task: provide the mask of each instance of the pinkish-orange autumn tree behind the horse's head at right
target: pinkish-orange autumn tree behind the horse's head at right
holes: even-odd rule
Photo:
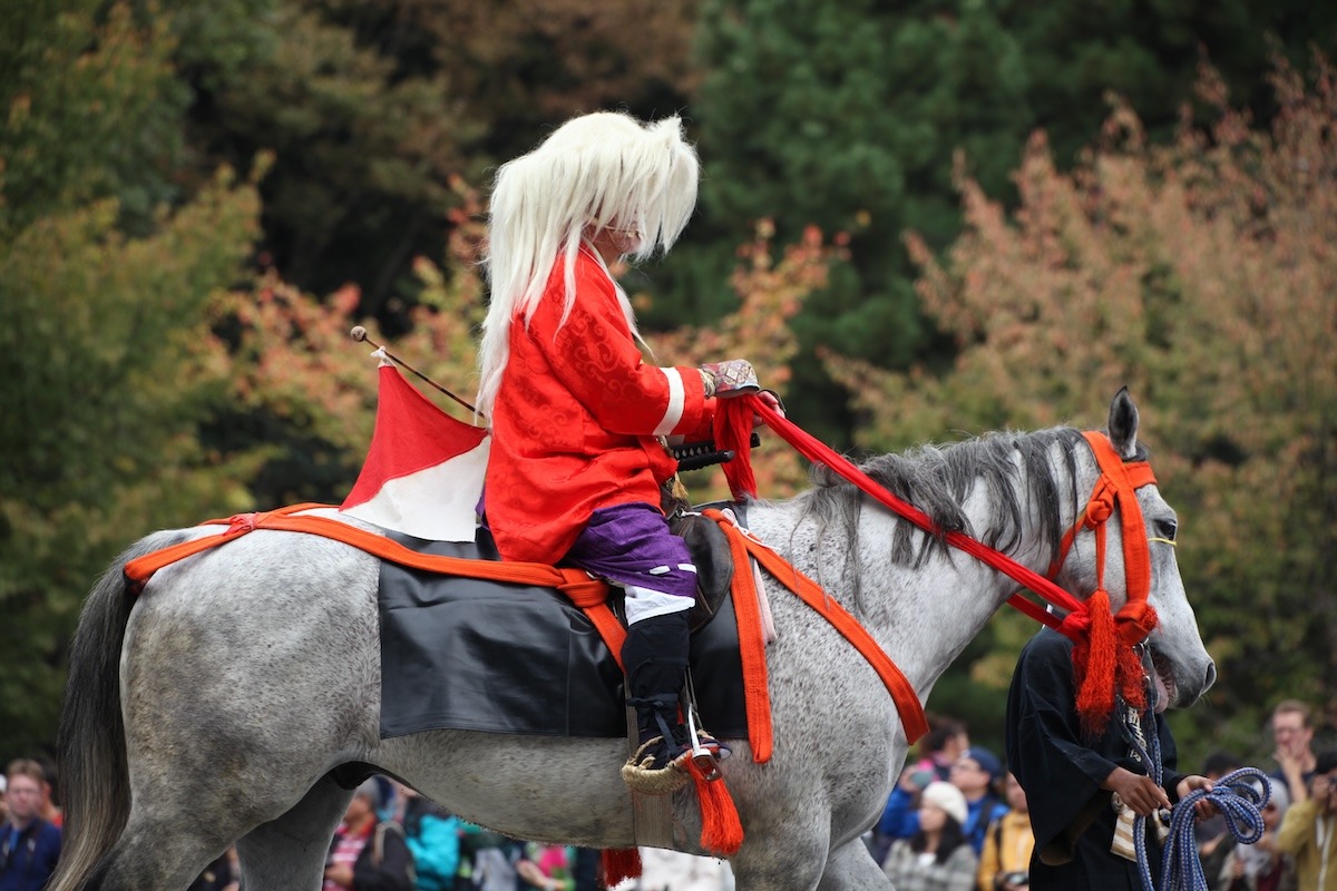
[[[1120,107],[1071,175],[1036,136],[1015,214],[963,179],[967,227],[945,263],[909,244],[925,310],[959,346],[947,374],[833,359],[858,394],[860,442],[1076,421],[1099,426],[1127,383],[1162,490],[1183,521],[1179,564],[1221,683],[1175,719],[1181,748],[1261,757],[1258,728],[1294,696],[1337,724],[1337,77],[1306,90],[1285,61],[1270,131],[1226,107],[1210,131],[1148,144]],[[999,688],[1025,620],[973,677]]]

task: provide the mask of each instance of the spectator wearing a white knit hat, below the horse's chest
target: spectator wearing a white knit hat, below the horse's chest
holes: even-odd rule
[[[965,796],[952,783],[935,780],[920,793],[919,828],[897,839],[882,872],[897,891],[972,891],[979,858],[965,840]]]

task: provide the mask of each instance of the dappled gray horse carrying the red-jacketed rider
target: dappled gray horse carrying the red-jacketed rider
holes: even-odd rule
[[[1136,407],[1120,393],[1108,435],[1138,454]],[[989,434],[864,468],[948,529],[1044,572],[1098,476],[1076,430]],[[909,528],[817,473],[790,501],[757,502],[751,532],[818,580],[873,635],[927,701],[935,681],[1013,592],[999,573]],[[1138,492],[1147,534],[1173,540],[1155,486]],[[55,891],[179,890],[234,842],[249,891],[321,884],[330,834],[352,792],[332,777],[366,763],[485,827],[539,842],[630,847],[632,810],[614,739],[435,731],[378,737],[377,560],[314,536],[258,530],[160,570],[132,600],[135,556],[215,533],[152,534],[92,590],[75,639],[62,716],[67,842]],[[1078,537],[1056,580],[1084,596],[1096,566]],[[1106,586],[1123,594],[1119,526]],[[1173,705],[1215,669],[1174,550],[1152,545],[1151,636]],[[767,582],[778,640],[767,648],[774,756],[746,741],[725,761],[746,832],[731,864],[747,891],[890,888],[860,835],[882,811],[906,739],[877,675],[828,624]],[[695,851],[695,793],[674,801]]]

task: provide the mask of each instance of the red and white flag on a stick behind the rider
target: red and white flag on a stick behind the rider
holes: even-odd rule
[[[372,448],[340,510],[416,538],[473,541],[489,442],[382,358]]]

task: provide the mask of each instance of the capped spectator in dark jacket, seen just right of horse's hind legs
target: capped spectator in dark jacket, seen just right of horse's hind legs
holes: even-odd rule
[[[353,792],[334,830],[322,891],[413,891],[413,855],[404,830],[381,822],[381,787],[369,777]]]

